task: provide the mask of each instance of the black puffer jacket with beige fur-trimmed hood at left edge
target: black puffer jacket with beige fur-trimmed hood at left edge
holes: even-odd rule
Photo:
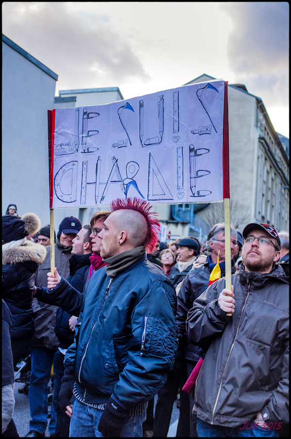
[[[2,298],[12,314],[12,339],[32,337],[34,333],[33,274],[45,256],[45,246],[32,241],[2,252]]]

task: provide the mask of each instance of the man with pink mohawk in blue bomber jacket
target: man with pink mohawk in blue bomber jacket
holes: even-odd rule
[[[173,367],[177,298],[146,259],[160,227],[151,208],[138,198],[115,200],[98,234],[108,265],[90,278],[64,361],[70,437],[142,437],[147,402]]]

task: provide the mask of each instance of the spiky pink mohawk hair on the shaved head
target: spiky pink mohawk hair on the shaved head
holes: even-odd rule
[[[151,253],[156,247],[158,241],[158,231],[160,230],[160,223],[156,212],[151,212],[152,205],[146,200],[134,197],[133,199],[120,199],[113,200],[110,205],[111,211],[121,209],[136,210],[141,213],[147,222],[147,234],[144,246],[148,253]]]

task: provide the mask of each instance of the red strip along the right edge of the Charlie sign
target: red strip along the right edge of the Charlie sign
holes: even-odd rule
[[[228,93],[225,81],[224,111],[223,111],[223,199],[230,198],[229,193],[229,136],[228,136]]]

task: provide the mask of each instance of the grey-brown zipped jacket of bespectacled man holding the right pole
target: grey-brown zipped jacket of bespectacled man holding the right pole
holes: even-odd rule
[[[242,269],[232,275],[231,316],[218,304],[225,279],[210,285],[188,313],[189,340],[208,348],[194,411],[204,422],[230,427],[258,412],[268,425],[289,422],[289,277],[278,265],[268,274]]]

